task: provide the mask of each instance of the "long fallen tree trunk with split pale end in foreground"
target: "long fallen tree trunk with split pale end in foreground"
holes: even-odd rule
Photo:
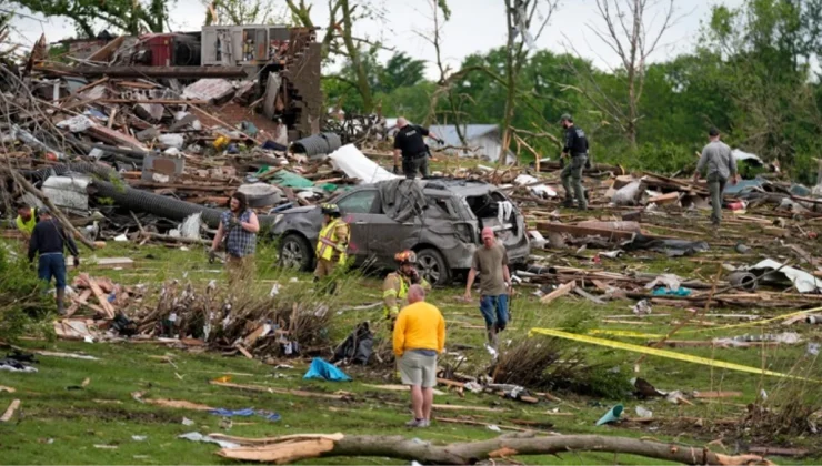
[[[511,456],[557,455],[571,452],[622,453],[686,465],[773,465],[755,455],[729,456],[703,447],[690,447],[635,438],[600,435],[537,437],[533,433],[490,440],[435,446],[419,439],[381,435],[302,435],[267,439],[268,445],[221,449],[218,455],[249,462],[285,464],[331,456],[379,456],[415,460],[424,465],[470,465],[482,459]],[[241,443],[249,445],[249,443]]]

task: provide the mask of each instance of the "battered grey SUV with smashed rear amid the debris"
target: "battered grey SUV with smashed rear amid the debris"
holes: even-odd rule
[[[480,232],[490,226],[512,264],[530,253],[524,217],[497,186],[478,181],[392,180],[360,185],[329,201],[350,225],[349,254],[357,265],[395,267],[398,251],[417,252],[420,274],[445,285],[471,267]],[[291,209],[277,215],[272,233],[280,237],[280,264],[310,271],[322,226],[319,206]]]

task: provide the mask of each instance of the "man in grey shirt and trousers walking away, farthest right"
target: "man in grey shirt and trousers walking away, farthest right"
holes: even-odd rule
[[[706,168],[705,179],[708,180],[708,189],[711,191],[711,207],[713,209],[711,223],[719,227],[722,222],[722,193],[725,191],[725,184],[729,180],[734,185],[739,182],[739,174],[736,173],[736,161],[733,160],[731,148],[720,141],[718,129],[711,128],[708,132],[708,140],[710,142],[702,149],[702,156],[696,164],[696,171],[693,173],[693,182],[695,183],[700,179],[700,173]]]

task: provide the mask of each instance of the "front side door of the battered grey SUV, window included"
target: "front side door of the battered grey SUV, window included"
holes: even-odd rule
[[[349,224],[351,232],[349,253],[357,264],[362,264],[371,255],[369,244],[372,235],[371,225],[379,216],[374,213],[378,197],[375,189],[364,189],[345,194],[337,201],[342,220]]]

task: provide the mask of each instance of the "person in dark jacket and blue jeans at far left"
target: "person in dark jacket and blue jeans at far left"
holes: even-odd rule
[[[61,315],[66,313],[63,302],[66,298],[66,256],[63,250],[66,247],[74,257],[74,266],[79,266],[80,259],[78,256],[80,252],[77,250],[74,240],[71,235],[66,234],[57,220],[51,217],[51,211],[48,207],[40,209],[40,221],[34,226],[29,242],[29,262],[33,262],[34,256],[39,253],[38,277],[47,283],[51,283],[51,278],[54,277],[57,312]]]

